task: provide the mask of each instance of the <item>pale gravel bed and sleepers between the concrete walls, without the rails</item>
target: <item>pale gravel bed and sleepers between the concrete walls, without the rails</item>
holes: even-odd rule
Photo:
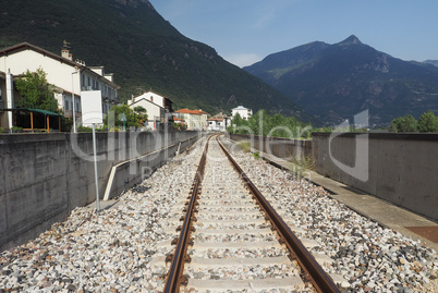
[[[204,175],[197,173],[206,142],[199,137],[99,212],[94,205],[77,207],[65,221],[0,253],[0,292],[163,292],[169,280],[175,285],[167,292],[317,291],[300,254],[282,240],[281,222],[266,219],[264,204],[256,206],[215,139]],[[223,136],[220,142],[244,170],[242,178],[251,178],[342,292],[438,292],[436,251],[245,152],[239,143]],[[183,211],[194,191],[197,211],[190,205]],[[183,224],[186,219],[194,231]],[[182,230],[193,243],[175,246]],[[185,266],[173,266],[170,278],[177,260]],[[183,277],[186,283],[178,283]]]

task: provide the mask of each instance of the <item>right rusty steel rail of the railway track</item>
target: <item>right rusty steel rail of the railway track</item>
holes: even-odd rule
[[[305,279],[309,279],[312,284],[315,286],[315,290],[318,292],[341,292],[339,288],[334,284],[333,280],[324,271],[324,269],[319,266],[319,264],[315,260],[313,255],[306,249],[306,247],[301,243],[301,241],[296,237],[296,235],[291,231],[289,225],[284,223],[281,217],[277,213],[277,211],[272,208],[269,202],[263,196],[263,194],[257,190],[254,183],[248,179],[248,176],[243,172],[243,170],[239,167],[235,160],[231,157],[224,146],[219,142],[219,137],[216,137],[219,143],[219,146],[234,167],[234,169],[239,172],[242,180],[246,183],[247,188],[254,195],[256,200],[259,203],[259,206],[265,211],[265,215],[268,216],[269,221],[276,229],[276,231],[280,234],[280,237],[284,240],[284,244],[288,246],[291,257],[294,258],[296,256],[296,261],[299,261],[300,266],[304,270]]]

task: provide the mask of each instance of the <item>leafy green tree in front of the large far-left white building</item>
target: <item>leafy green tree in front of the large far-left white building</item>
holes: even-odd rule
[[[27,71],[23,77],[16,80],[16,89],[21,96],[16,107],[59,112],[54,87],[47,82],[46,76],[39,68],[36,72]]]

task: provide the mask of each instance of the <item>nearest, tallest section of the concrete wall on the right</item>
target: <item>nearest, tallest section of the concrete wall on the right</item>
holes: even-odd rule
[[[330,142],[330,134],[314,133],[318,173],[438,220],[438,134],[368,134],[369,151],[360,155],[368,156],[366,181],[333,163],[354,166],[360,135],[342,134]]]

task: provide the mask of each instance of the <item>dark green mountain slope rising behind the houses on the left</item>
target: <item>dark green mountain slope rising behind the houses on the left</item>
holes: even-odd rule
[[[181,35],[147,0],[0,0],[0,13],[1,48],[28,41],[60,53],[65,39],[74,60],[114,73],[123,99],[151,89],[174,108],[215,114],[244,105],[313,119],[212,48]]]

